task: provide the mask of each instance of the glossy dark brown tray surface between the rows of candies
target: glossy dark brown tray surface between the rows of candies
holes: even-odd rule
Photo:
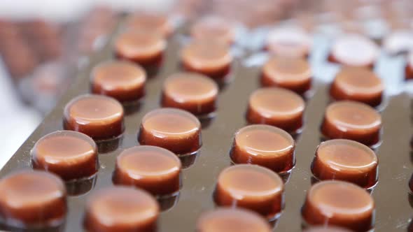
[[[182,30],[181,30],[182,31]],[[177,32],[179,34],[179,32]],[[65,104],[74,96],[89,92],[90,70],[95,64],[107,59],[113,59],[112,36],[104,50],[90,58],[90,65],[78,73],[77,79],[68,92],[64,94],[57,106],[45,117],[44,121],[31,134],[8,161],[0,172],[4,176],[12,171],[30,167],[30,150],[34,143],[47,133],[62,130],[62,113]],[[125,115],[125,133],[116,150],[99,154],[100,169],[94,190],[111,186],[112,172],[115,167],[116,156],[125,148],[138,145],[137,133],[141,118],[148,111],[160,107],[160,89],[163,80],[168,75],[179,71],[179,50],[182,45],[182,36],[174,35],[169,39],[164,63],[158,75],[147,81],[146,96],[141,107]],[[300,210],[304,203],[307,189],[311,185],[310,164],[314,157],[317,145],[320,143],[319,126],[323,118],[325,107],[330,101],[328,98],[328,82],[326,78],[333,78],[334,64],[325,61],[325,44],[321,40],[320,49],[311,57],[314,65],[315,94],[307,100],[304,114],[304,131],[296,140],[296,165],[290,180],[286,183],[286,207],[276,225],[275,231],[300,231]],[[218,174],[223,168],[230,166],[229,151],[232,136],[237,129],[246,125],[244,113],[248,96],[253,90],[260,87],[258,77],[260,65],[246,66],[251,61],[253,52],[245,52],[237,57],[232,69],[235,78],[226,85],[218,96],[218,112],[209,126],[202,129],[202,148],[197,155],[195,164],[183,171],[183,187],[179,201],[170,210],[162,212],[159,219],[159,231],[183,232],[195,231],[195,223],[201,212],[215,207],[212,199],[214,186]],[[390,61],[379,61],[376,70],[385,73],[386,78],[394,79],[400,84],[402,76],[401,65],[388,66]],[[399,59],[400,58],[394,58]],[[402,61],[401,61],[402,62]],[[258,62],[259,63],[259,62]],[[320,64],[320,65],[319,65]],[[401,64],[401,63],[400,63]],[[387,73],[387,74],[386,74]],[[391,74],[388,74],[391,73]],[[324,78],[318,78],[323,76]],[[390,80],[391,82],[392,80]],[[386,87],[388,87],[386,80]],[[377,150],[379,157],[379,183],[374,188],[372,196],[376,203],[376,220],[374,231],[406,231],[409,219],[413,216],[412,206],[409,203],[407,183],[412,174],[412,156],[410,154],[409,139],[412,135],[411,106],[408,94],[392,93],[387,95],[386,108],[381,112],[384,129],[383,143]],[[4,131],[6,132],[6,131]],[[114,148],[108,145],[107,148]],[[85,200],[92,191],[80,196],[69,196],[69,212],[64,231],[83,231],[82,221],[85,210]],[[1,193],[0,193],[1,194]]]

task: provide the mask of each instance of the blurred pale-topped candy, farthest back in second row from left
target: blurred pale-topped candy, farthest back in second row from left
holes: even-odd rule
[[[235,29],[228,20],[218,16],[202,17],[193,24],[190,35],[196,40],[208,39],[231,44],[235,41]]]

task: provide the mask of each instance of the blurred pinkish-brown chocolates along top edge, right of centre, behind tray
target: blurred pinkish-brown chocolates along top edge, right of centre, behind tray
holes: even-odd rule
[[[413,29],[411,0],[179,0],[176,10],[189,17],[221,15],[249,27],[286,19],[309,31],[320,24],[335,24],[344,32],[372,37]]]

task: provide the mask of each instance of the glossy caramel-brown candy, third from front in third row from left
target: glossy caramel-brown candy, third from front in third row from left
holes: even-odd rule
[[[294,139],[269,125],[250,125],[235,133],[230,156],[235,164],[258,164],[284,173],[295,164]]]

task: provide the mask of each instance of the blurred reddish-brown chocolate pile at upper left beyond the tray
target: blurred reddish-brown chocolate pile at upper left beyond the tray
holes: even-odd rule
[[[80,61],[104,42],[118,14],[96,7],[76,22],[0,18],[0,55],[22,101],[47,113],[75,77]]]

